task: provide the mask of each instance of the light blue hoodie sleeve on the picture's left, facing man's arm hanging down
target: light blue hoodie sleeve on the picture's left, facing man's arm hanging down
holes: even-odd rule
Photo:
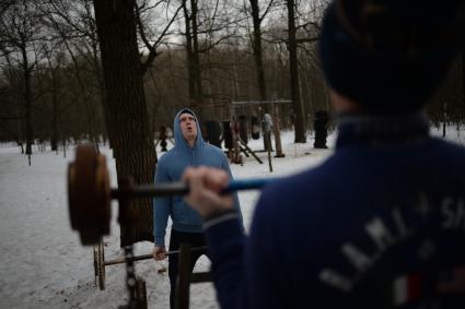
[[[159,162],[155,171],[155,183],[171,181],[166,166],[163,162]],[[153,199],[153,236],[155,239],[155,246],[165,245],[165,234],[167,218],[170,216],[171,198],[170,197],[158,197]]]

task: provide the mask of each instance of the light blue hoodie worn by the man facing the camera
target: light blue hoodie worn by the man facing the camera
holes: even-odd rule
[[[230,176],[230,179],[232,179],[228,157],[219,147],[210,145],[204,141],[198,121],[196,121],[197,140],[194,147],[190,147],[181,131],[179,114],[181,111],[174,118],[173,123],[175,146],[160,157],[156,166],[155,183],[181,181],[183,173],[188,166],[210,166],[221,168],[225,170]],[[241,213],[237,194],[234,194],[234,203]],[[173,222],[172,228],[177,231],[202,233],[200,215],[189,207],[189,205],[184,201],[184,197],[175,195],[171,198],[155,198],[153,200],[153,235],[155,238],[155,246],[165,245],[164,238],[168,216],[171,216]]]

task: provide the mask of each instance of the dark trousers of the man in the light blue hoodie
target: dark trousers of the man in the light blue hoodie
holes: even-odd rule
[[[170,251],[178,250],[181,243],[189,243],[190,248],[194,247],[202,247],[206,246],[205,241],[205,235],[204,233],[184,233],[184,231],[177,231],[172,229],[171,230],[171,238],[170,238]],[[193,272],[194,266],[196,265],[197,260],[204,253],[199,252],[193,252],[190,254],[190,272]],[[171,254],[167,258],[168,260],[168,276],[170,276],[170,284],[171,284],[171,292],[170,292],[170,308],[174,309],[174,299],[176,295],[176,281],[177,281],[177,273],[178,273],[178,254]]]

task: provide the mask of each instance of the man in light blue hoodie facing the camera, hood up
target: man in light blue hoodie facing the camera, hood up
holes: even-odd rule
[[[209,166],[223,170],[228,179],[232,179],[228,157],[213,145],[206,143],[201,136],[196,115],[190,109],[182,109],[174,118],[175,146],[164,154],[156,166],[155,183],[179,181],[184,170],[189,166]],[[234,209],[241,214],[237,194],[233,197]],[[170,238],[170,251],[177,250],[181,243],[191,247],[206,246],[201,228],[201,217],[189,207],[183,197],[155,198],[154,204],[154,239],[153,258],[158,261],[166,258],[165,234],[168,217],[173,225]],[[242,226],[242,216],[241,216]],[[201,253],[191,254],[191,268]],[[178,273],[177,254],[168,258],[168,276],[171,283],[170,306],[174,308],[176,277]]]

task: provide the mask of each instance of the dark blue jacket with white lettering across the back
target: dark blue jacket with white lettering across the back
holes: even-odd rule
[[[265,189],[248,240],[207,222],[221,308],[465,308],[465,148],[428,130],[347,118],[323,165]]]

